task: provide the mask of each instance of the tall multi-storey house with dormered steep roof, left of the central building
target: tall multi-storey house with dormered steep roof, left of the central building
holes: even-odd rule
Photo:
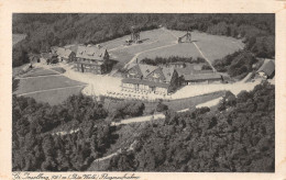
[[[81,72],[101,75],[111,70],[112,63],[106,48],[94,45],[79,45],[74,68]]]

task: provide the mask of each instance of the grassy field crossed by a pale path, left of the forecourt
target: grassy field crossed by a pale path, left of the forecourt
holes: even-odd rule
[[[51,105],[59,104],[69,95],[79,94],[85,83],[68,79],[59,75],[63,69],[36,68],[32,69],[13,87],[13,93],[34,98],[38,102],[47,102]],[[58,76],[51,76],[58,75]]]

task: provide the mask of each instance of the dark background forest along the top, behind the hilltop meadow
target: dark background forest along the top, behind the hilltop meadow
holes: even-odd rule
[[[12,32],[26,34],[13,46],[13,67],[29,61],[28,53],[46,52],[51,46],[73,43],[101,43],[130,34],[135,25],[141,31],[166,26],[170,30],[197,30],[216,35],[243,38],[245,49],[257,57],[275,54],[275,14],[48,14],[14,13]]]

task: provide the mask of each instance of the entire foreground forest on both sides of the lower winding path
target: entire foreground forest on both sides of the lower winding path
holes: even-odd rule
[[[82,171],[109,150],[121,127],[110,117],[138,116],[143,103],[119,104],[112,114],[90,97],[73,95],[48,105],[32,98],[12,99],[12,170]],[[217,110],[176,113],[156,106],[165,120],[136,132],[133,151],[114,156],[112,171],[273,172],[275,165],[275,88],[268,82],[237,97],[228,92]],[[55,135],[53,132],[79,131]],[[131,138],[129,136],[129,138]],[[132,137],[134,138],[134,137]]]

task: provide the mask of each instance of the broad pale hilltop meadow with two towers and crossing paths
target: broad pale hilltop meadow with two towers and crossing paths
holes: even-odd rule
[[[102,43],[109,49],[111,58],[118,60],[119,64],[124,65],[139,55],[139,59],[148,57],[201,57],[201,54],[195,46],[204,53],[204,55],[213,61],[217,58],[222,58],[228,54],[234,53],[243,48],[244,44],[241,40],[235,40],[227,36],[210,35],[200,32],[191,32],[191,40],[194,43],[176,44],[177,37],[183,36],[186,32],[180,31],[164,31],[163,29],[145,31],[141,33],[141,44],[132,44],[124,46],[124,41],[130,38],[130,35]],[[166,47],[164,47],[166,46]],[[119,67],[121,67],[119,66]]]

